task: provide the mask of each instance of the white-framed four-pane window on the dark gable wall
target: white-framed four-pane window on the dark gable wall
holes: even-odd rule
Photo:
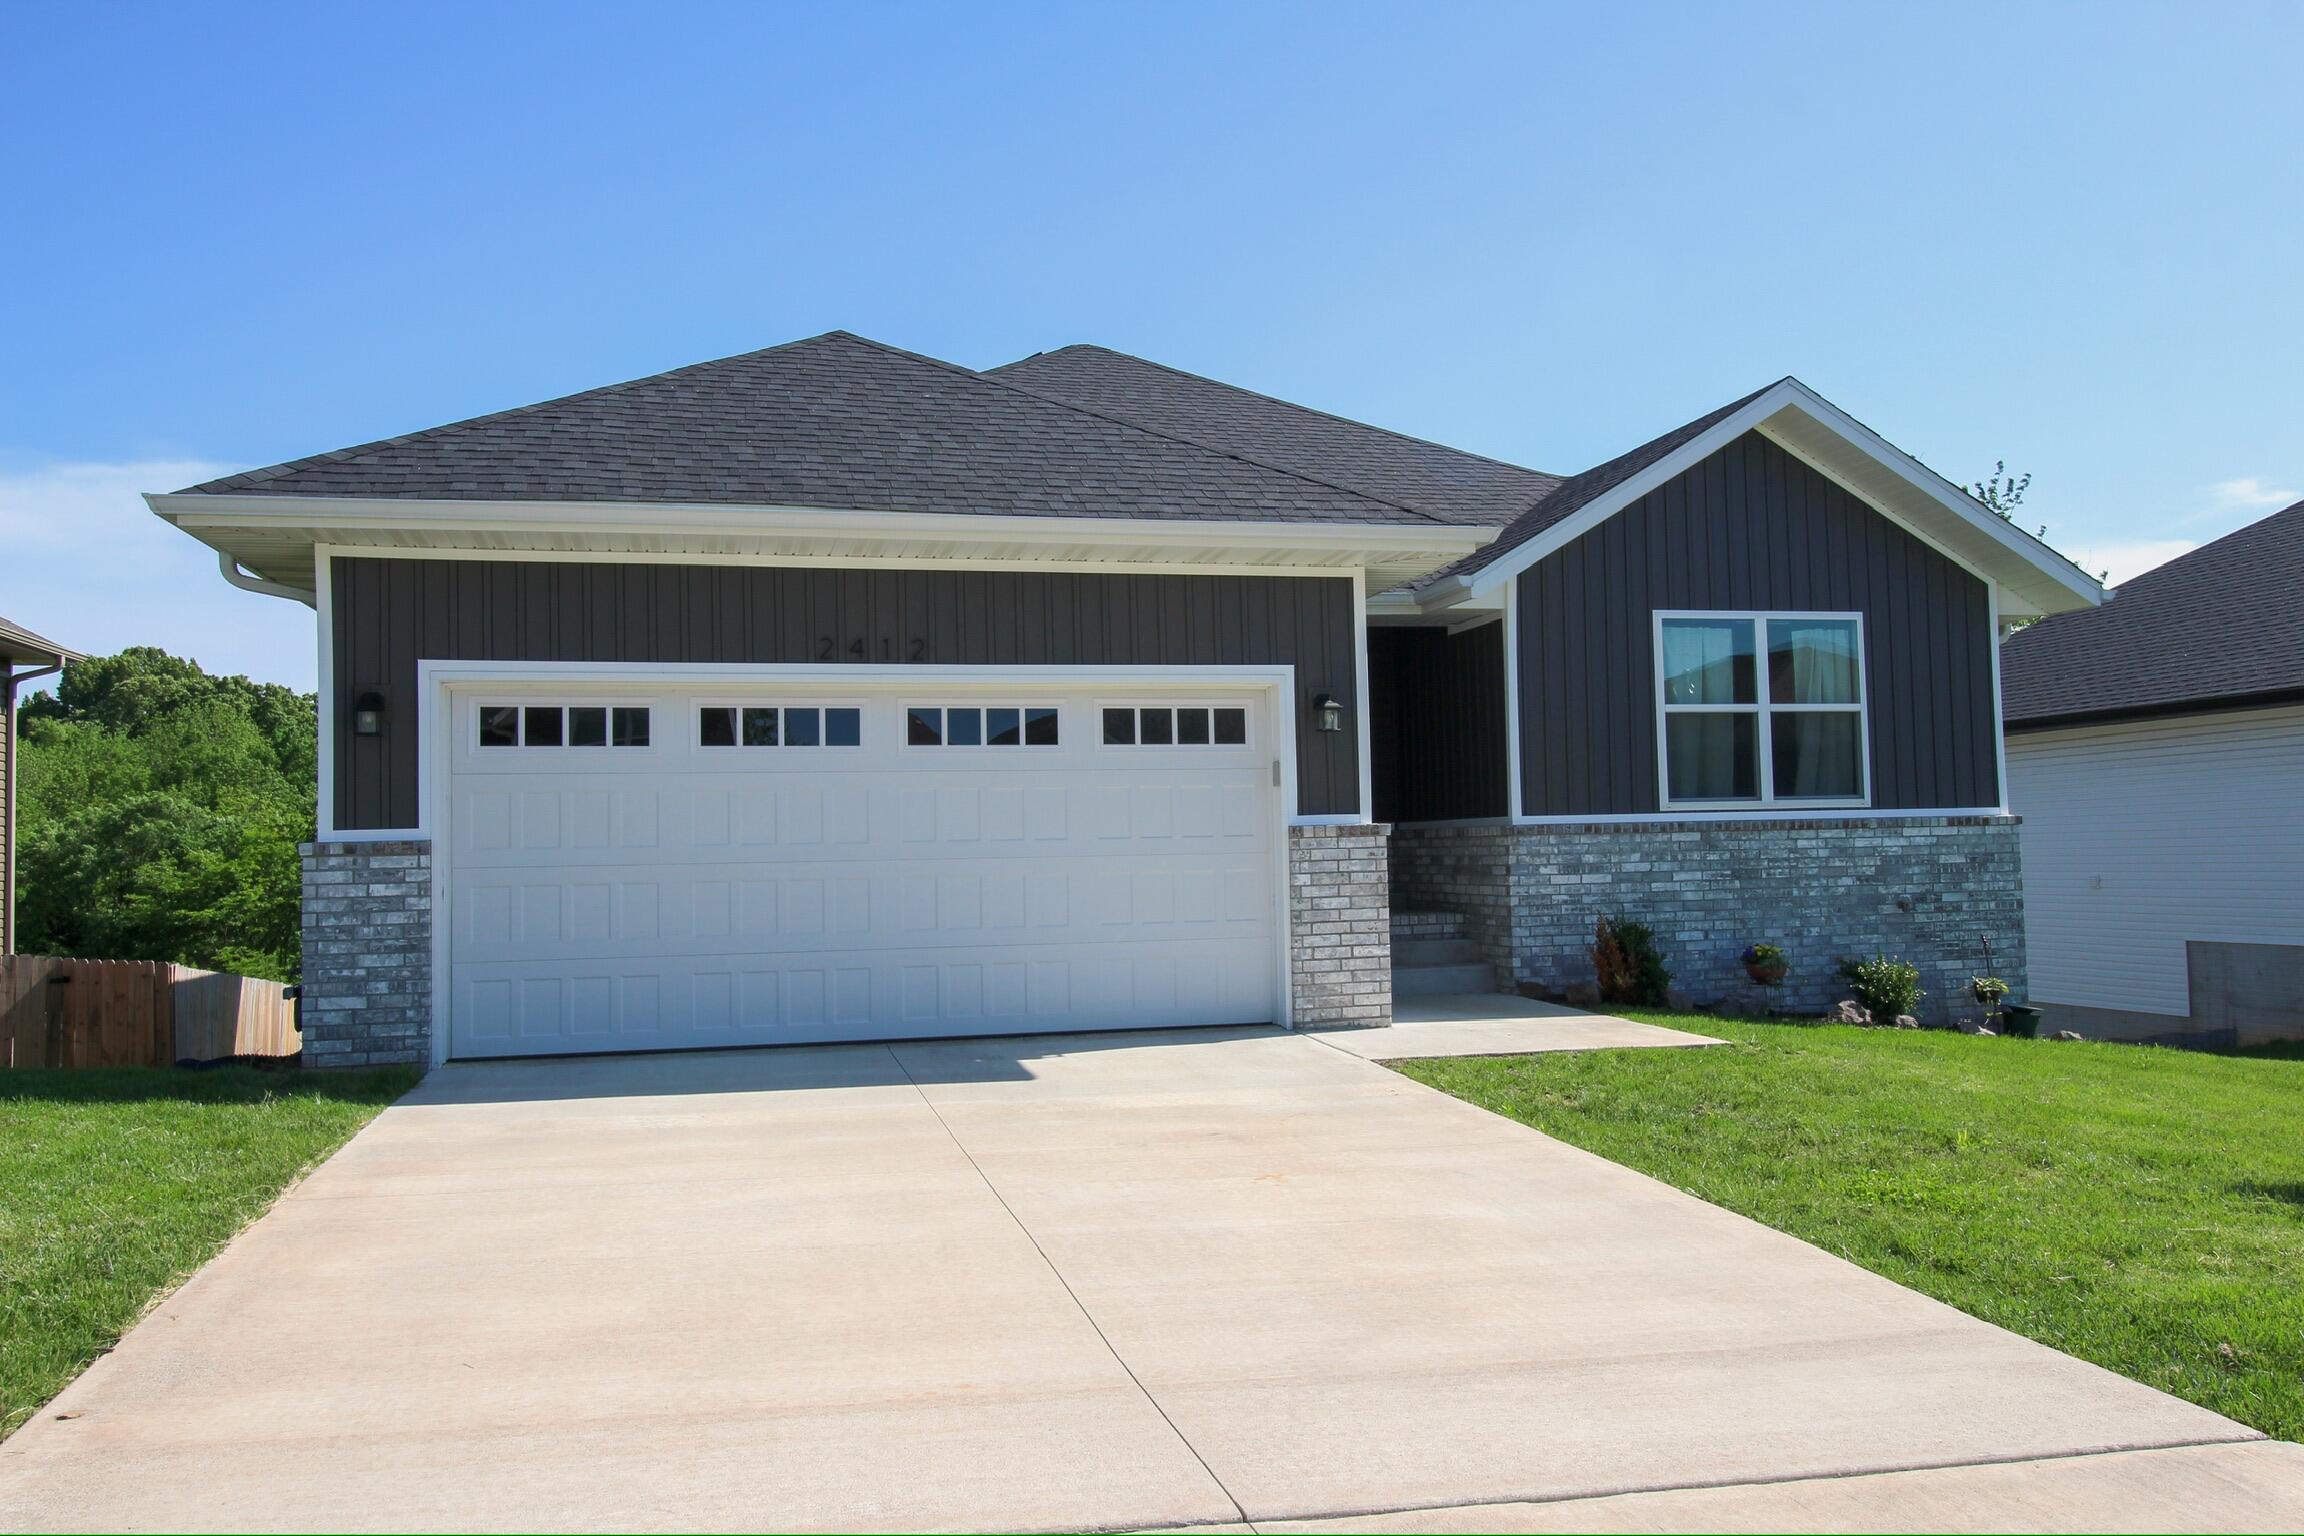
[[[1657,613],[1663,806],[1869,806],[1859,613]]]

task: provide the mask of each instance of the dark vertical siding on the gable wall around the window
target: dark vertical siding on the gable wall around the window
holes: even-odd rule
[[[1758,433],[1518,578],[1528,815],[1661,811],[1659,608],[1864,615],[1871,804],[2000,804],[1981,580]]]

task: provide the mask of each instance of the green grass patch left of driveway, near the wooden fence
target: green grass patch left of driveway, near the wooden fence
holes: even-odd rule
[[[0,1073],[0,1435],[415,1080]]]

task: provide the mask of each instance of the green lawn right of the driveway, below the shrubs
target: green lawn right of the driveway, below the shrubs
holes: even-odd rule
[[[2304,1059],[1631,1013],[1730,1041],[1419,1082],[2304,1439]]]

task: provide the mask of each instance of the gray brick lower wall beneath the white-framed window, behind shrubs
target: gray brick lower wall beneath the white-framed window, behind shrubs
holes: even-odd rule
[[[1465,935],[1505,974],[1541,988],[1592,979],[1592,923],[1624,914],[1657,930],[1673,986],[1696,1002],[1822,1013],[1848,995],[1841,956],[1919,965],[1922,1022],[1975,1013],[1984,969],[2025,995],[2016,818],[1880,815],[1772,822],[1401,827],[1401,907],[1463,912]],[[1781,988],[1756,988],[1737,953],[1781,944]]]

